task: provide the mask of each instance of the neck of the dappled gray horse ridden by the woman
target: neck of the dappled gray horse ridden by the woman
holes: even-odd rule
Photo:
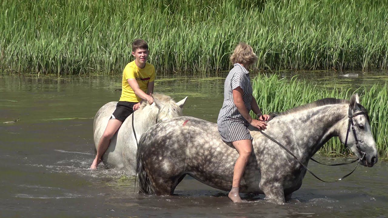
[[[296,138],[296,156],[308,161],[330,138],[338,136],[347,109],[345,104],[334,104],[284,115],[288,123],[286,126],[292,126],[288,134]],[[282,119],[281,116],[279,118]]]

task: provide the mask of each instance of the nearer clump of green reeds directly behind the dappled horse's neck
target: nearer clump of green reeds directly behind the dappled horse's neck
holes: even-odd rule
[[[388,159],[388,84],[361,87],[352,91],[343,88],[322,88],[296,79],[284,80],[279,76],[259,75],[253,79],[253,95],[263,112],[285,111],[290,108],[323,98],[350,99],[353,93],[359,93],[360,103],[369,111],[371,127],[376,141],[379,158]],[[299,128],[299,127],[298,127]],[[349,154],[346,147],[337,138],[332,138],[320,150],[328,156]]]

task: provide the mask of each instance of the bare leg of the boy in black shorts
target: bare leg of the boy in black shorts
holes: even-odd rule
[[[90,169],[97,169],[97,165],[101,162],[102,155],[105,153],[106,149],[108,149],[109,143],[111,142],[111,138],[113,137],[114,133],[116,133],[116,131],[120,128],[121,124],[123,124],[123,122],[118,119],[110,119],[108,121],[108,125],[106,126],[106,129],[98,143],[97,154],[92,165],[90,166]]]

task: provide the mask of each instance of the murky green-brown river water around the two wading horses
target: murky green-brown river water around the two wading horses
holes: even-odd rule
[[[292,73],[284,73],[290,77]],[[317,75],[320,76],[309,76]],[[216,122],[223,100],[220,78],[157,78],[156,92],[180,100],[189,96],[184,114]],[[301,78],[326,86],[383,84],[388,74],[305,72]],[[120,171],[88,170],[94,157],[95,112],[120,97],[120,77],[0,77],[0,217],[387,217],[388,163],[359,166],[338,183],[306,175],[301,189],[285,205],[263,195],[244,195],[234,204],[227,192],[187,176],[176,196],[137,194],[134,178]],[[86,118],[86,119],[63,119]],[[9,121],[15,123],[4,123]],[[352,159],[329,159],[326,163]],[[339,178],[352,166],[309,167],[327,179]]]

